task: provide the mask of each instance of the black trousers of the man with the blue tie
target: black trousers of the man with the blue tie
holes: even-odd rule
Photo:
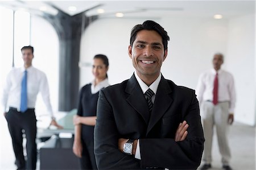
[[[36,169],[36,117],[35,109],[28,109],[24,113],[10,108],[6,114],[11,139],[13,140],[13,150],[16,157],[18,169]],[[27,161],[23,155],[23,137],[24,130],[27,144]]]

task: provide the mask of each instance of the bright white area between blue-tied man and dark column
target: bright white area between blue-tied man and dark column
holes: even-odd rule
[[[59,99],[59,38],[53,26],[39,16],[31,16],[31,45],[34,47],[32,65],[46,73],[53,112]],[[41,94],[36,100],[36,115],[48,114]]]

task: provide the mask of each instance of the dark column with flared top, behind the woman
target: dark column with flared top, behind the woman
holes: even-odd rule
[[[81,34],[97,16],[88,18],[84,13],[70,16],[59,10],[55,16],[43,17],[59,36],[59,111],[69,111],[77,107]]]

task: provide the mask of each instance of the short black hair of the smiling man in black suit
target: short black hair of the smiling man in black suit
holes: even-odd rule
[[[143,22],[143,24],[138,24],[133,27],[131,30],[131,37],[130,37],[130,45],[133,46],[133,42],[136,39],[137,33],[142,30],[149,30],[149,31],[156,31],[158,34],[162,37],[162,42],[164,45],[164,50],[166,50],[168,47],[168,41],[170,40],[170,37],[167,35],[167,32],[164,30],[160,24],[152,21],[152,20],[146,20]]]

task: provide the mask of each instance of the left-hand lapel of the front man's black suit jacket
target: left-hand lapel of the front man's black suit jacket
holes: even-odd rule
[[[150,118],[150,113],[148,111],[147,102],[143,95],[142,89],[139,86],[138,81],[136,80],[134,74],[127,82],[127,86],[125,89],[126,93],[130,95],[126,98],[126,101],[139,113],[142,118],[148,123],[148,119]]]

